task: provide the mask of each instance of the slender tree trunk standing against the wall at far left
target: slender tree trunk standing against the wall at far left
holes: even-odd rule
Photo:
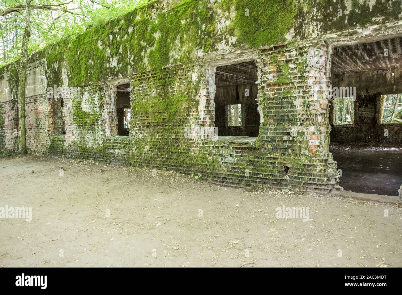
[[[27,82],[27,59],[29,37],[31,37],[31,0],[25,4],[25,31],[21,46],[20,68],[18,71],[18,152],[27,154],[27,136],[25,128],[25,86]]]

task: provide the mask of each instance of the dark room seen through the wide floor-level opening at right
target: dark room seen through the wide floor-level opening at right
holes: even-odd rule
[[[331,57],[330,151],[340,186],[398,195],[402,184],[402,38],[336,47]],[[352,88],[351,88],[352,87]],[[354,90],[352,90],[354,88]],[[355,97],[352,97],[352,93]],[[345,94],[345,92],[344,92]]]

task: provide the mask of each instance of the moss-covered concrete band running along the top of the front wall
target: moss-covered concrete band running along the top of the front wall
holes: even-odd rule
[[[78,87],[191,63],[222,49],[309,40],[398,20],[400,14],[401,0],[150,1],[50,45],[31,61],[46,59],[47,86]]]

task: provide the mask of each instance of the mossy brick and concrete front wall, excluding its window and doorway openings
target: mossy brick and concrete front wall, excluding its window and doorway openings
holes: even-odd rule
[[[200,173],[218,183],[332,191],[338,177],[328,151],[324,35],[397,20],[400,8],[400,1],[381,0],[152,1],[33,55],[45,79],[34,85],[40,95],[27,100],[40,115],[27,130],[29,149]],[[255,53],[259,71],[258,138],[197,138],[198,128],[214,127],[213,64],[246,51]],[[0,73],[15,91],[15,73]],[[131,83],[129,137],[116,136],[123,80]],[[57,98],[41,92],[54,86],[79,87],[80,94],[64,89],[61,111]],[[2,102],[4,118],[12,105],[15,96]],[[65,135],[57,134],[60,120]]]

